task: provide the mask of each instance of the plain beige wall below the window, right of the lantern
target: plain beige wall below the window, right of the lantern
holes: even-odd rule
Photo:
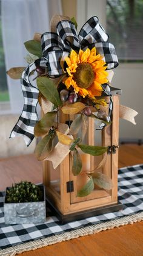
[[[131,107],[139,113],[135,118],[136,126],[120,119],[120,138],[143,139],[142,71],[143,63],[120,64],[119,67],[114,70],[115,75],[111,85],[122,89],[121,104]]]

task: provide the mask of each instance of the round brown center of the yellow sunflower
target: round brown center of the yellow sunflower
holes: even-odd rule
[[[78,87],[87,89],[93,83],[95,73],[90,64],[81,63],[78,68],[76,68],[76,72],[73,74],[73,79]]]

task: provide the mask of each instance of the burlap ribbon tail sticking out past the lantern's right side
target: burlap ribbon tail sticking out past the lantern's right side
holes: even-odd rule
[[[135,116],[137,116],[137,115],[138,115],[138,112],[136,112],[132,108],[126,107],[124,105],[119,105],[119,117],[120,118],[125,119],[125,120],[131,122],[132,124],[136,125]]]

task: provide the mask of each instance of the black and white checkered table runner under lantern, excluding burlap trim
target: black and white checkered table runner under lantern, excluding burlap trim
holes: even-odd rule
[[[118,176],[118,199],[122,202],[123,210],[119,212],[106,213],[105,215],[93,216],[81,221],[60,224],[58,219],[48,212],[47,222],[43,224],[18,224],[5,225],[3,201],[4,193],[0,193],[0,248],[14,246],[19,243],[33,241],[39,238],[57,235],[91,226],[127,215],[142,212],[143,210],[143,165],[129,166],[119,169]],[[0,252],[1,255],[1,252]]]

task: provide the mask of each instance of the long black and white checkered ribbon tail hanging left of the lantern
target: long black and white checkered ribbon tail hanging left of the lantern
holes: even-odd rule
[[[24,95],[24,108],[22,114],[13,128],[10,138],[22,136],[27,146],[34,138],[34,127],[38,121],[36,105],[38,104],[38,88],[30,84],[29,76],[36,69],[35,62],[28,65],[21,76],[21,87]]]

